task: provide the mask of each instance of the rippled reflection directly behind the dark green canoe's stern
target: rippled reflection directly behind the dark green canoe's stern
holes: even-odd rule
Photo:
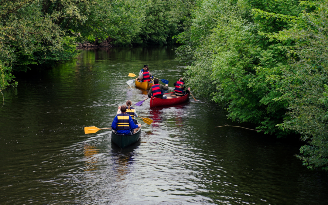
[[[114,143],[112,143],[112,154],[114,159],[113,170],[116,171],[116,181],[125,180],[126,176],[130,173],[132,164],[134,163],[134,156],[136,155],[133,151],[137,146],[140,145],[140,140],[129,147],[121,149]]]

